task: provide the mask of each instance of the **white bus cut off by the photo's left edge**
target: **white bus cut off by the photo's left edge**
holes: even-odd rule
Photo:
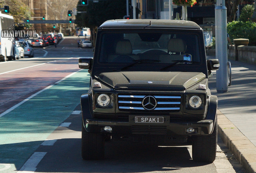
[[[15,45],[12,44],[14,38],[2,37],[2,30],[8,30],[13,23],[12,16],[0,12],[0,60],[2,61],[12,60],[15,56]]]

